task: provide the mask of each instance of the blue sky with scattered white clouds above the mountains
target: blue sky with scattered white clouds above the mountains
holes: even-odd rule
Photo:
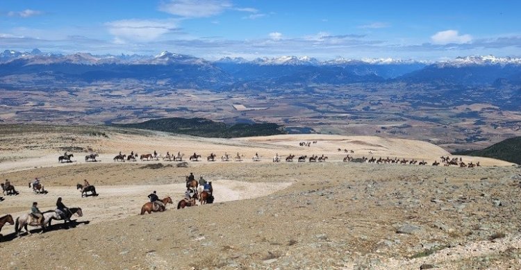
[[[0,49],[209,60],[521,56],[521,1],[1,0]]]

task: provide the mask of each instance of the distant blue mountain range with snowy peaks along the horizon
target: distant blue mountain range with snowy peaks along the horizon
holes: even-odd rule
[[[14,80],[13,80],[14,78]],[[164,51],[157,56],[70,55],[6,50],[0,53],[0,86],[45,86],[122,79],[162,81],[172,87],[226,91],[238,85],[345,85],[350,83],[435,83],[521,87],[521,58],[468,56],[443,62],[310,57],[203,58]]]

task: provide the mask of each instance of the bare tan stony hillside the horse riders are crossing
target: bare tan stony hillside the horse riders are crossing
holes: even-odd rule
[[[75,228],[53,226],[15,237],[4,226],[1,269],[507,269],[521,267],[520,168],[462,157],[482,167],[342,162],[415,158],[431,164],[448,153],[426,142],[370,136],[279,135],[209,139],[142,130],[78,126],[2,126],[0,216],[53,209],[58,196],[81,207]],[[299,142],[312,142],[310,147]],[[66,149],[72,163],[58,163]],[[85,162],[87,151],[99,162]],[[202,161],[114,162],[128,154],[194,152]],[[206,156],[217,154],[217,161]],[[220,161],[236,153],[242,161]],[[251,157],[258,153],[261,162]],[[326,155],[326,162],[272,162],[278,153]],[[151,164],[161,163],[163,166]],[[182,198],[184,176],[212,180],[215,203],[139,215],[154,189]],[[32,194],[39,177],[48,194]],[[99,196],[81,198],[88,179]],[[58,221],[60,223],[61,221]],[[33,228],[33,232],[38,232]],[[44,260],[50,258],[51,260]]]

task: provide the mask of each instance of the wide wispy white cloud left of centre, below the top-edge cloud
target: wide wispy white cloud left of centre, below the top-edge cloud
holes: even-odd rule
[[[105,24],[108,32],[115,36],[115,41],[135,40],[147,42],[156,40],[161,35],[176,30],[176,22],[168,20],[122,19]]]

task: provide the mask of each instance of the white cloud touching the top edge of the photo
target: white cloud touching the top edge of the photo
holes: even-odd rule
[[[231,8],[231,3],[226,0],[171,0],[159,6],[159,10],[181,17],[210,17],[226,8]]]

